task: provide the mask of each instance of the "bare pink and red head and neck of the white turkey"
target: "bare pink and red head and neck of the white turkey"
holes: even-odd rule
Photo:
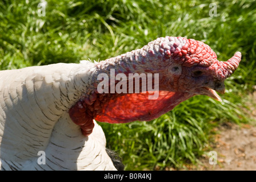
[[[126,123],[151,121],[181,102],[198,94],[221,101],[214,91],[225,93],[224,80],[237,69],[241,53],[226,62],[217,60],[215,52],[194,39],[158,38],[147,46],[112,57],[95,65],[91,88],[70,108],[70,118],[88,136],[93,119],[100,122]],[[159,97],[149,100],[149,93],[99,94],[99,73],[159,73]],[[117,81],[115,82],[117,84]]]

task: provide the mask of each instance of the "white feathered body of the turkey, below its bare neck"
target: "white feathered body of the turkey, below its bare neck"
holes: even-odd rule
[[[93,63],[0,71],[0,166],[4,170],[115,170],[94,121],[89,137],[68,110],[86,92]],[[46,164],[38,164],[39,151]]]

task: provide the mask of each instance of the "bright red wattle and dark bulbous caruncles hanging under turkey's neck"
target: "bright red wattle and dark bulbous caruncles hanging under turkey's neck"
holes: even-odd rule
[[[81,126],[83,135],[89,136],[93,132],[93,119],[108,123],[151,121],[191,97],[167,91],[160,91],[157,100],[148,100],[148,96],[149,93],[105,94],[100,101],[102,94],[97,94],[97,102],[92,105],[79,101],[71,107],[70,118]]]

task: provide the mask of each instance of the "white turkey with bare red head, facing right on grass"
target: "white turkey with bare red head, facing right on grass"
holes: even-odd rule
[[[198,94],[221,101],[215,91],[225,93],[224,80],[239,61],[240,52],[222,62],[205,43],[166,36],[100,62],[0,71],[1,169],[116,170],[95,120],[151,121]],[[145,91],[141,77],[139,88],[129,90],[134,82],[125,88],[123,76],[135,73],[130,80],[144,74],[157,89]],[[99,77],[102,74],[104,78]],[[106,84],[99,87],[104,80]],[[118,84],[129,92],[111,92],[111,86]],[[153,94],[157,97],[149,99]],[[45,163],[38,162],[42,151]]]

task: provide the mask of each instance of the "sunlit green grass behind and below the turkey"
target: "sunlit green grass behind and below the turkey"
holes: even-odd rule
[[[256,1],[213,1],[213,17],[211,2],[51,0],[38,16],[39,1],[1,1],[0,69],[105,60],[167,35],[201,40],[219,60],[241,51],[222,103],[196,96],[151,122],[100,123],[126,169],[184,168],[209,147],[213,127],[250,120],[242,108],[256,82]]]

